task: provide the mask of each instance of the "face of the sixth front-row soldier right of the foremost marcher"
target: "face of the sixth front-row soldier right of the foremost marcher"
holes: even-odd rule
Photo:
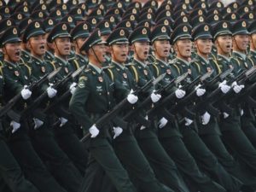
[[[218,49],[218,53],[223,52],[220,54],[230,54],[232,49],[232,37],[230,35],[218,36],[215,45]]]

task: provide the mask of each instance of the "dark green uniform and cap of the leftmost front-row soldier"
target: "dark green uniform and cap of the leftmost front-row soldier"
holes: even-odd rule
[[[15,27],[10,27],[0,40],[1,44],[9,42],[20,42],[18,32]],[[2,46],[3,46],[2,45]],[[3,75],[6,79],[5,90],[7,101],[13,96],[20,94],[25,84],[30,84],[30,77],[26,75],[27,68],[19,66],[11,61],[3,61]],[[15,112],[22,112],[25,108],[25,102],[20,101],[15,105]],[[9,148],[15,156],[15,159],[26,174],[26,177],[35,184],[40,191],[66,191],[55,182],[55,179],[49,174],[43,162],[36,154],[30,138],[27,135],[26,118],[20,119],[20,129],[11,134],[8,140]]]

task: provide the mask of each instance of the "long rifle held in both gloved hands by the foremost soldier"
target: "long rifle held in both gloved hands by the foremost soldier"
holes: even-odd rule
[[[148,90],[155,84],[158,84],[160,80],[164,79],[165,76],[166,76],[166,73],[160,75],[160,77],[158,77],[157,79],[151,79],[150,81],[148,81],[147,84],[144,84],[143,87],[138,88],[133,94],[139,95],[143,93],[144,91]],[[129,102],[127,101],[127,98],[119,102],[119,104],[117,104],[110,112],[104,114],[100,119],[97,119],[95,123],[96,127],[100,129],[102,125],[106,124],[106,122],[109,122],[111,119],[115,118],[117,113],[119,113],[119,111],[122,110],[128,103]],[[80,141],[84,143],[88,139],[88,137],[90,137],[89,132],[85,134],[85,136],[81,138]]]

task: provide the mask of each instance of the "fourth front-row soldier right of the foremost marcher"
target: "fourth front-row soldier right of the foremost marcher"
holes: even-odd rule
[[[180,72],[189,73],[186,83],[189,84],[193,81],[193,73],[195,73],[195,68],[191,67],[190,57],[191,57],[191,28],[182,24],[177,26],[177,28],[172,32],[172,44],[177,53],[177,67],[179,67]],[[193,90],[194,88],[190,88]],[[190,90],[190,91],[191,91]],[[205,94],[206,90],[195,91],[196,97],[201,97]],[[193,101],[189,102],[186,106],[187,108],[193,108]],[[236,180],[236,178],[231,177],[228,172],[224,170],[224,167],[218,163],[217,158],[212,154],[212,152],[207,148],[207,145],[203,143],[201,137],[198,135],[198,126],[194,122],[194,119],[189,119],[186,117],[186,113],[180,113],[184,117],[185,122],[180,123],[180,129],[183,134],[183,142],[189,149],[190,154],[193,155],[198,166],[209,175],[209,177],[214,178],[214,180],[221,184],[228,191],[239,191],[241,188],[241,183]]]

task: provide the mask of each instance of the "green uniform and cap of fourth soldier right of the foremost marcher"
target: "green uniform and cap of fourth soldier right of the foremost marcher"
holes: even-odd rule
[[[171,38],[173,43],[176,43],[177,39],[180,38],[191,38],[189,26],[177,26]],[[192,82],[192,74],[195,73],[195,68],[191,67],[190,62],[177,57],[176,65],[179,67],[181,74],[189,73],[186,83]],[[193,102],[189,104],[188,108],[192,105]],[[184,113],[182,115],[185,116],[186,114]],[[186,125],[182,122],[180,128],[183,134],[183,142],[189,149],[189,152],[194,156],[198,166],[228,191],[239,191],[241,182],[231,177],[230,174],[224,170],[224,167],[218,163],[217,158],[212,154],[209,148],[207,148],[207,145],[203,143],[201,137],[199,137],[198,125],[195,122],[192,122],[190,125]]]

